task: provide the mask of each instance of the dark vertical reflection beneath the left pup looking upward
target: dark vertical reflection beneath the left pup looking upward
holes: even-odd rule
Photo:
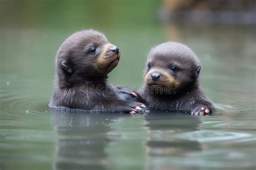
[[[113,115],[54,113],[53,126],[58,135],[55,169],[105,169],[109,163],[105,146]]]

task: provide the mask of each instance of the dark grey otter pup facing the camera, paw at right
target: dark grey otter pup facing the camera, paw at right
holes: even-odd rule
[[[152,110],[212,114],[213,105],[199,86],[200,69],[197,56],[186,45],[167,42],[153,47],[140,90],[143,102]]]

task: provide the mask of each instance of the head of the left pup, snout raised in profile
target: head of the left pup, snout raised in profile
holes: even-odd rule
[[[117,66],[118,47],[95,30],[74,33],[60,46],[56,56],[59,83],[73,85],[85,81],[101,81]]]

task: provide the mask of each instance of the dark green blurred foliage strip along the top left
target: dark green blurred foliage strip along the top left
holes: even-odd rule
[[[152,25],[156,0],[1,1],[4,26],[72,29],[91,25],[107,28]]]

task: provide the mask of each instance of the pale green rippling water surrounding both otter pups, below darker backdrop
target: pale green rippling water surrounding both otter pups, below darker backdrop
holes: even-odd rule
[[[122,51],[109,81],[129,87],[142,83],[151,46],[179,30],[176,40],[201,60],[201,85],[215,114],[53,112],[54,56],[79,29],[5,28],[0,169],[255,169],[255,26],[95,28]]]

